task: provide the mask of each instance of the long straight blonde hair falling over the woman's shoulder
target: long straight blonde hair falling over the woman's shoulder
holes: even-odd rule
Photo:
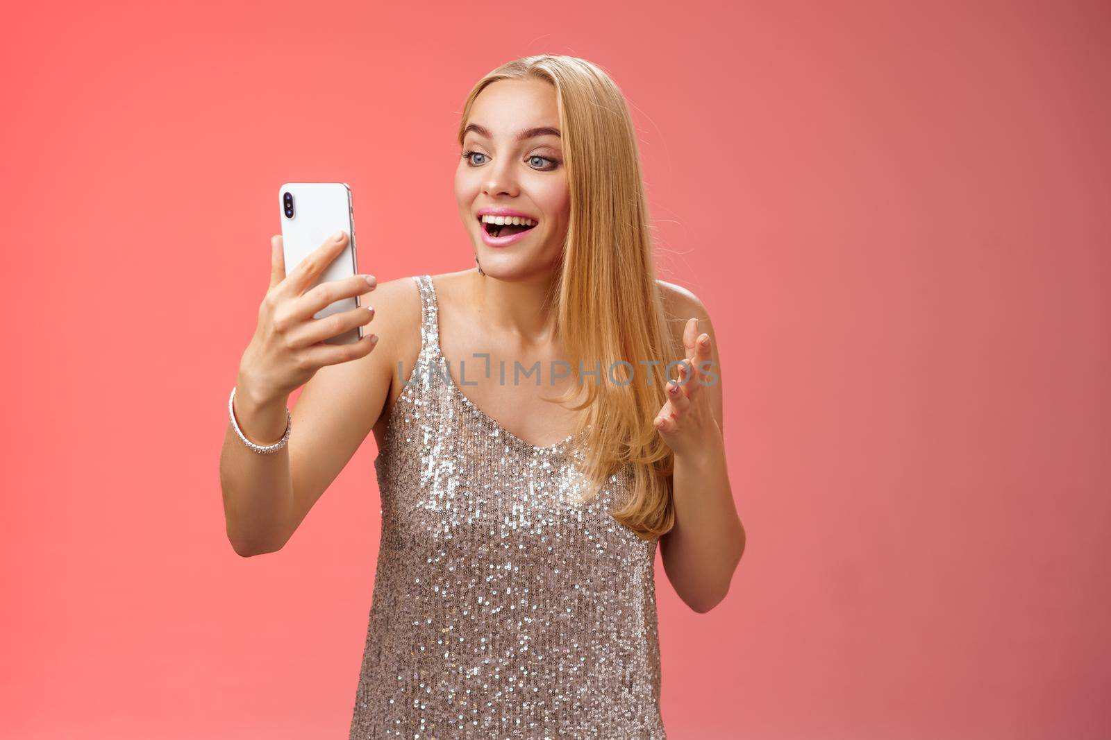
[[[674,455],[652,422],[667,401],[667,364],[684,355],[669,336],[655,282],[635,129],[624,95],[602,69],[577,57],[538,54],[507,62],[476,83],[463,107],[460,145],[479,93],[498,80],[523,78],[554,85],[567,164],[570,221],[552,288],[557,332],[579,384],[580,363],[585,373],[600,369],[587,384],[587,398],[568,405],[588,409],[580,432],[591,426],[584,473],[595,488],[584,499],[631,466],[632,496],[612,516],[641,539],[653,539],[674,524]],[[572,386],[553,401],[568,404],[578,393]]]

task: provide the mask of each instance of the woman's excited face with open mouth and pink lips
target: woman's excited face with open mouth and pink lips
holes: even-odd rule
[[[501,278],[549,272],[563,254],[570,215],[556,88],[541,80],[498,80],[471,105],[456,170],[456,200],[482,272]],[[522,136],[523,138],[520,138]],[[484,224],[486,210],[536,222]],[[519,236],[513,236],[519,232]]]

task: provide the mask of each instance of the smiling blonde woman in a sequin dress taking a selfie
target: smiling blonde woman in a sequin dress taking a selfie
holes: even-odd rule
[[[228,537],[280,549],[373,430],[350,738],[664,738],[657,545],[704,612],[745,541],[713,328],[654,276],[634,130],[600,68],[499,67],[459,144],[474,268],[307,290],[347,235],[289,274],[272,240],[220,463]],[[312,318],[357,294],[374,307]],[[321,344],[371,320],[377,336]]]

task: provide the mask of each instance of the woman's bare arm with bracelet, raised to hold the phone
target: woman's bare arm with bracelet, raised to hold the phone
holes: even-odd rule
[[[232,429],[230,419],[227,420],[220,453],[220,486],[228,540],[242,557],[281,549],[351,459],[377,423],[389,395],[397,337],[407,334],[399,325],[412,323],[414,312],[420,315],[419,307],[413,310],[410,305],[419,300],[411,280],[391,281],[372,288],[373,292],[364,287],[360,303],[367,306],[373,298],[371,326],[380,336],[373,351],[367,354],[358,345],[306,346],[303,339],[312,338],[309,336],[312,332],[326,331],[329,320],[337,330],[329,335],[340,333],[342,327],[336,317],[341,314],[313,320],[316,306],[302,303],[301,313],[308,312],[308,321],[294,321],[292,296],[304,302],[312,291],[302,295],[301,288],[290,282],[311,284],[313,275],[307,272],[297,277],[294,272],[286,278],[284,267],[279,270],[278,264],[280,240],[274,249],[276,274],[271,277],[267,303],[260,308],[260,328],[243,353],[236,381],[236,420],[247,438],[259,445],[277,442],[286,430],[290,393],[286,388],[299,385],[296,373],[303,373],[309,379],[291,409],[290,437],[282,449],[267,455],[251,450]],[[328,253],[316,256],[320,259],[319,270],[330,262]],[[306,260],[302,265],[309,262]],[[288,295],[278,295],[279,284],[286,285]],[[323,301],[321,307],[330,303],[328,295],[317,297]],[[366,308],[358,311],[370,315]],[[274,314],[279,316],[277,321]],[[337,364],[314,365],[314,359],[343,353],[350,353],[351,357]],[[294,373],[288,378],[281,374],[287,364]],[[283,379],[276,379],[279,377]]]

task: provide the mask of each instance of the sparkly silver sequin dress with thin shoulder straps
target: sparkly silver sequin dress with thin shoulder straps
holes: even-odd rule
[[[578,503],[585,430],[538,447],[474,406],[446,369],[432,278],[413,280],[421,352],[374,460],[382,536],[350,740],[665,739],[659,539],[609,514],[631,472]]]

